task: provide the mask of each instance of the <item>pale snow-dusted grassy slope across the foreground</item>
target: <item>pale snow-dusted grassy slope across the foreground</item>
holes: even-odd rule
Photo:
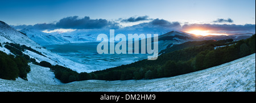
[[[28,81],[0,79],[0,91],[254,91],[255,53],[220,66],[151,80],[85,80],[68,84],[49,68],[30,64]]]

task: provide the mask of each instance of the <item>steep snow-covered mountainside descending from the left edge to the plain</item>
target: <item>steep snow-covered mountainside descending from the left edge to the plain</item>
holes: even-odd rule
[[[90,72],[89,70],[90,66],[73,62],[67,58],[61,57],[58,54],[52,53],[51,51],[43,48],[43,46],[39,45],[35,41],[31,40],[28,36],[24,35],[24,33],[20,33],[19,31],[16,31],[14,28],[10,27],[5,22],[1,22],[1,21],[0,21],[0,42],[2,44],[2,46],[0,46],[0,50],[7,54],[11,54],[11,52],[10,50],[5,48],[4,42],[12,42],[15,44],[26,45],[42,53],[43,55],[46,55],[46,57],[44,57],[43,55],[36,54],[34,52],[31,52],[30,50],[25,50],[23,52],[24,54],[29,55],[30,58],[35,58],[37,62],[47,61],[52,65],[65,66],[77,72],[85,72],[85,71]]]

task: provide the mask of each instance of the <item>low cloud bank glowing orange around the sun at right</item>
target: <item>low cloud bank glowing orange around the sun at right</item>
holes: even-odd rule
[[[182,26],[183,31],[200,29],[202,31],[212,31],[216,33],[255,33],[255,24],[185,24]]]

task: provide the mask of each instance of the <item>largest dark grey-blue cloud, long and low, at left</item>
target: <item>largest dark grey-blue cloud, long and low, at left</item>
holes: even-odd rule
[[[109,22],[106,19],[90,19],[89,16],[79,19],[78,16],[69,16],[67,18],[60,19],[56,23],[43,23],[35,25],[13,25],[16,29],[98,29],[98,28],[110,28],[117,29],[119,28],[118,23]]]

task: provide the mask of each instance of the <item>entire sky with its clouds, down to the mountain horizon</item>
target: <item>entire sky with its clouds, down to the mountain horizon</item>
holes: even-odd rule
[[[255,0],[1,0],[0,4],[0,20],[17,29],[118,29],[137,25],[180,31],[204,27],[215,32],[249,27],[245,32],[255,33]]]

